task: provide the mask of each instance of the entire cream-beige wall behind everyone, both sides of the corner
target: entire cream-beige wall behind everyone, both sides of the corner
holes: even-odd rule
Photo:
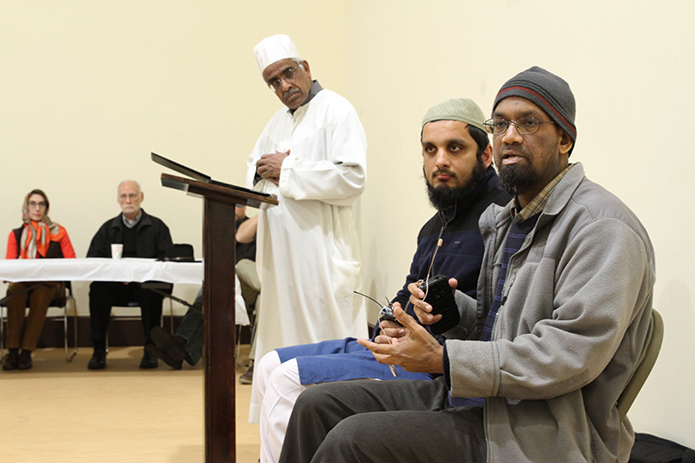
[[[286,32],[321,83],[348,97],[369,141],[362,201],[369,294],[402,284],[432,214],[421,179],[420,119],[468,96],[488,112],[499,86],[540,65],[577,98],[572,159],[640,216],[657,253],[655,307],[666,322],[659,362],[630,416],[638,431],[695,446],[695,225],[683,150],[694,107],[695,34],[687,1],[0,0],[0,230],[19,225],[31,188],[79,256],[118,212],[134,177],[145,208],[200,255],[201,205],[159,185],[150,151],[243,183],[257,134],[280,103],[252,48]],[[685,121],[685,123],[683,122]],[[682,155],[684,154],[684,156]],[[86,287],[78,303],[86,310]],[[196,288],[181,288],[194,295]],[[688,391],[688,392],[686,392]]]

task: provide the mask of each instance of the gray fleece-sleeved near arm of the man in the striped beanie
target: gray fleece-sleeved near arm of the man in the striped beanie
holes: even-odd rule
[[[452,395],[547,399],[592,382],[651,307],[649,253],[632,228],[603,219],[573,236],[560,261],[517,269],[493,340],[447,340]]]

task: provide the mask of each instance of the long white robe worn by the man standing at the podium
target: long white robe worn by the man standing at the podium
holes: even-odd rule
[[[367,150],[355,109],[324,89],[294,114],[278,111],[248,158],[247,185],[262,155],[287,150],[280,185],[254,187],[280,203],[259,211],[256,360],[278,347],[367,336],[364,303],[353,294],[361,259],[352,206],[365,187]],[[260,405],[255,383],[251,422]]]

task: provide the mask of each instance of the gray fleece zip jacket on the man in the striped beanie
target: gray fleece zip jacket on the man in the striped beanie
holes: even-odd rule
[[[510,205],[481,216],[478,299],[457,293],[462,322],[445,333],[451,394],[485,397],[490,462],[627,462],[634,432],[616,401],[650,323],[649,236],[576,164],[509,261],[492,340],[466,340],[490,308],[510,224]]]

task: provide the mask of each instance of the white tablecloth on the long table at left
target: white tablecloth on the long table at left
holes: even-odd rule
[[[166,281],[203,282],[202,262],[159,262],[155,259],[5,259],[5,281]]]

